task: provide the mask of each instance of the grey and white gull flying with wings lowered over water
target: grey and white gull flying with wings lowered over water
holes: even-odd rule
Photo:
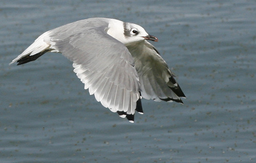
[[[10,64],[25,64],[47,52],[62,53],[73,62],[74,72],[90,95],[133,123],[135,110],[143,114],[141,98],[181,104],[181,98],[186,98],[175,75],[147,40],[158,41],[139,25],[88,18],[43,33]]]

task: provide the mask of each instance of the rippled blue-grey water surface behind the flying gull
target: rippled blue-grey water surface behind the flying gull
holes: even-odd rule
[[[40,34],[89,17],[141,25],[184,105],[104,108],[61,54],[9,66]],[[0,1],[0,162],[255,162],[255,1]]]

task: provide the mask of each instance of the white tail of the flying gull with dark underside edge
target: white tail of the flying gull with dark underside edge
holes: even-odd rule
[[[18,62],[17,65],[28,63],[36,60],[46,52],[51,51],[49,38],[48,32],[45,32],[39,36],[22,54],[13,59],[9,65],[14,62]]]

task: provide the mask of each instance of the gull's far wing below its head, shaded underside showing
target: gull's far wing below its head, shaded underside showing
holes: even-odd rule
[[[185,98],[185,95],[175,81],[174,74],[151,43],[144,41],[137,44],[136,48],[127,46],[127,49],[135,60],[143,98],[182,103],[180,97]]]

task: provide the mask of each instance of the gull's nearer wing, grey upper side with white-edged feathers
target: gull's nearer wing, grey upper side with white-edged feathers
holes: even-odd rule
[[[90,95],[94,94],[104,107],[134,114],[140,99],[134,60],[124,44],[108,35],[107,30],[105,21],[59,27],[49,33],[51,49],[73,61],[74,72],[84,88],[89,88]]]

